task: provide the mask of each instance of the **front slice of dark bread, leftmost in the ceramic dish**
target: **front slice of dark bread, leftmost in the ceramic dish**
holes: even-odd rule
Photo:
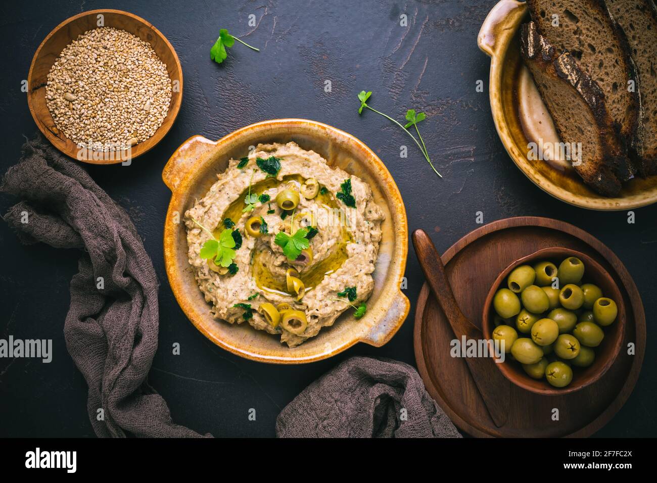
[[[615,196],[621,188],[614,164],[623,157],[600,86],[568,52],[561,55],[534,22],[522,25],[520,54],[532,72],[562,143],[581,143],[576,172],[592,189]]]

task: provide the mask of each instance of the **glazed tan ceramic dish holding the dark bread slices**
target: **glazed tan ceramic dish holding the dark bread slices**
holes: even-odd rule
[[[560,139],[520,57],[520,26],[529,21],[524,2],[501,0],[477,37],[479,48],[491,58],[489,97],[495,128],[513,162],[537,187],[581,208],[629,210],[657,202],[657,175],[623,183],[616,197],[601,196],[583,183],[570,162],[545,152]],[[536,160],[535,153],[542,156]]]

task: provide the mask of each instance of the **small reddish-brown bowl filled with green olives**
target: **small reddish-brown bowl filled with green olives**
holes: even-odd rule
[[[482,331],[511,382],[536,394],[576,392],[612,366],[625,306],[614,279],[590,256],[544,248],[512,262],[484,302]],[[499,354],[499,352],[497,353]]]

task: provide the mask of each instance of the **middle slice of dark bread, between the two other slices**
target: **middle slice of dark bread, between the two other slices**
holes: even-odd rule
[[[555,46],[556,53],[570,52],[600,86],[623,149],[629,151],[639,144],[639,93],[628,90],[628,81],[636,86],[637,76],[627,38],[604,0],[527,0],[527,5],[539,33]],[[558,26],[552,23],[555,14]],[[622,181],[637,171],[629,158],[615,169]]]

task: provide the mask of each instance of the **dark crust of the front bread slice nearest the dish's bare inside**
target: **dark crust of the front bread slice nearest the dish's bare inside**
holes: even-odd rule
[[[574,168],[584,182],[601,195],[618,195],[621,180],[616,171],[618,164],[625,161],[625,155],[618,143],[614,123],[607,112],[604,93],[600,86],[581,70],[577,60],[570,53],[564,52],[558,55],[555,47],[539,34],[534,22],[522,25],[520,53],[535,78],[538,74],[544,74],[558,79],[562,89],[574,91],[576,97],[581,100],[581,105],[573,106],[574,109],[581,108],[591,113],[596,124],[598,139],[591,139],[589,142],[597,144],[601,155],[597,159],[583,159],[582,163]],[[560,112],[556,112],[553,108],[551,96],[554,93],[545,91],[539,79],[535,80],[562,141],[564,138],[576,138],[577,135],[567,132],[566,123],[560,117]]]

